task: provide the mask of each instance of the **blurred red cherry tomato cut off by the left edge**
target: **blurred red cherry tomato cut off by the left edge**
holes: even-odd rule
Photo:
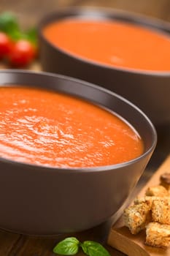
[[[12,48],[12,41],[7,34],[0,31],[0,59],[7,56]]]

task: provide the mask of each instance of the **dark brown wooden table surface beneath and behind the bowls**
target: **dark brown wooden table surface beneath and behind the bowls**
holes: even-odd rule
[[[57,10],[58,7],[75,6],[75,5],[88,5],[88,6],[104,6],[113,7],[118,9],[130,10],[132,12],[140,12],[145,15],[151,15],[153,17],[162,18],[163,20],[170,21],[170,1],[169,0],[1,0],[0,1],[0,12],[1,11],[12,11],[20,18],[21,22],[25,23],[36,23],[39,21],[46,12]],[[41,7],[41,8],[40,8]],[[3,63],[0,63],[0,69],[7,69]],[[28,69],[39,72],[41,70],[41,64],[39,61],[31,64]],[[164,131],[166,130],[163,127]],[[169,127],[167,128],[169,133]],[[169,141],[167,140],[166,133],[162,134],[162,128],[160,129],[158,147],[156,148],[155,154],[152,157],[150,164],[145,170],[142,178],[136,187],[137,193],[146,181],[152,176],[152,173],[158,168],[158,166],[169,154]],[[20,213],[22,215],[22,213]],[[57,218],[57,216],[56,216]],[[43,225],[43,223],[42,223]],[[103,225],[94,227],[91,230],[87,230],[82,233],[75,234],[63,234],[53,237],[33,237],[21,234],[15,234],[0,230],[0,256],[52,256],[53,247],[58,241],[61,241],[67,236],[76,236],[80,241],[84,240],[95,240],[99,241],[109,250],[110,255],[123,256],[123,253],[112,249],[107,245],[107,234],[111,222],[108,221]],[[84,255],[81,251],[77,256]],[[136,255],[134,255],[136,256]],[[140,256],[140,255],[138,255]]]

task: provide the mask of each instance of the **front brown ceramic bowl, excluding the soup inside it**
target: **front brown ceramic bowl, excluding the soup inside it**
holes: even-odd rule
[[[111,91],[62,75],[8,70],[0,71],[0,81],[0,86],[53,89],[101,105],[124,117],[144,141],[140,157],[103,167],[61,169],[1,158],[0,227],[47,236],[119,217],[155,148],[157,135],[147,116]]]

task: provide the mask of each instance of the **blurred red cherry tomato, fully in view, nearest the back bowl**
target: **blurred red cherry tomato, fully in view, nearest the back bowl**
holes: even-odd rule
[[[25,67],[36,56],[34,45],[26,39],[20,39],[14,43],[9,53],[9,64],[15,67]]]

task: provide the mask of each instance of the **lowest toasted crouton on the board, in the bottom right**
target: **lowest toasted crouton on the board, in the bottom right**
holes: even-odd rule
[[[170,226],[150,222],[146,227],[146,235],[145,244],[167,248],[170,243]]]

